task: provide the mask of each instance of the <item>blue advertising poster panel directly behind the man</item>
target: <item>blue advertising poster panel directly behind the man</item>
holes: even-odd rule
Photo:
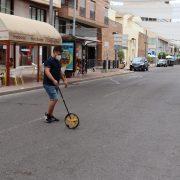
[[[64,51],[69,52],[70,61],[66,66],[66,70],[73,71],[74,69],[74,43],[73,42],[64,42],[62,43],[62,47]]]

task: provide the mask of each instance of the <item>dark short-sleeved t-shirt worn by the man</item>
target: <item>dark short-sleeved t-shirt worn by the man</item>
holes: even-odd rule
[[[46,60],[44,62],[44,68],[50,68],[50,73],[53,76],[53,78],[56,81],[60,81],[61,75],[60,75],[60,71],[61,71],[61,65],[60,62],[53,58],[52,56],[48,58],[48,60]],[[46,73],[44,72],[44,79],[43,79],[43,84],[45,85],[50,85],[50,86],[54,86],[53,82],[47,77]]]

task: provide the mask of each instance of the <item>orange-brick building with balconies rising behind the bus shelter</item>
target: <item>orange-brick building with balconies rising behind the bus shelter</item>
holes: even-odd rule
[[[65,37],[72,35],[73,7],[74,0],[63,0],[61,9],[56,13],[55,27]],[[108,8],[107,0],[77,0],[76,58],[82,60],[86,56],[89,68],[97,62],[101,41],[98,34],[101,28],[108,27]]]

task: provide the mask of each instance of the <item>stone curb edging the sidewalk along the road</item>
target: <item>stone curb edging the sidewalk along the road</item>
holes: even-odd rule
[[[80,83],[80,82],[86,82],[86,81],[92,81],[92,80],[98,80],[98,79],[106,79],[108,77],[113,77],[113,76],[122,76],[122,75],[126,75],[126,74],[130,74],[133,72],[125,72],[125,73],[121,73],[121,74],[112,74],[109,76],[101,76],[101,77],[93,77],[93,78],[87,78],[87,79],[81,79],[81,80],[75,80],[75,81],[71,81],[68,84],[73,85],[74,83]],[[63,85],[63,83],[60,83],[60,85]],[[30,88],[22,88],[22,89],[16,89],[16,90],[10,90],[10,91],[5,91],[5,92],[0,92],[0,96],[5,96],[8,94],[17,94],[17,93],[22,93],[22,92],[28,92],[28,91],[33,91],[33,90],[38,90],[38,89],[42,89],[43,85],[41,86],[36,86],[36,87],[30,87]]]

